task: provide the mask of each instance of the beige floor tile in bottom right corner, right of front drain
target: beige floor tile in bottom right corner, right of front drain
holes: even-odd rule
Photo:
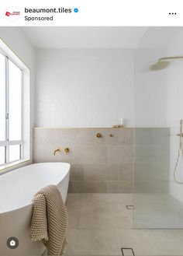
[[[132,247],[136,256],[182,255],[183,244],[175,230],[118,230],[121,247]]]

